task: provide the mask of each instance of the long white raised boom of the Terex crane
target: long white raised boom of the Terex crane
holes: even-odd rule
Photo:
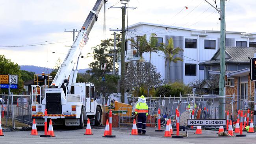
[[[108,0],[97,0],[93,9],[90,11],[89,15],[87,16],[81,30],[78,32],[76,39],[73,41],[73,44],[65,57],[63,63],[59,67],[59,70],[52,81],[52,84],[55,84],[58,86],[58,88],[61,88],[65,81],[65,79],[68,79],[72,71],[74,71],[74,66],[78,64],[79,56],[81,55],[81,50],[83,46],[88,41],[88,35],[93,28],[94,23],[98,19],[98,13],[100,12],[100,9],[102,8],[103,4],[106,3]],[[77,72],[76,72],[77,74]],[[76,80],[76,74],[72,74],[72,80],[69,81],[69,83],[72,83]],[[71,76],[70,76],[71,77]],[[51,86],[52,86],[51,84]]]

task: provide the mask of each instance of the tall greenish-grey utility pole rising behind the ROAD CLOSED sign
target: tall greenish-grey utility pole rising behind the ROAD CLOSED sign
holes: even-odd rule
[[[210,2],[206,1],[208,4]],[[221,20],[221,39],[220,39],[220,53],[221,53],[221,61],[220,61],[220,67],[221,72],[219,76],[219,96],[225,96],[224,93],[224,82],[225,82],[225,46],[226,46],[226,22],[225,22],[225,0],[221,0],[221,9],[217,9],[217,7],[210,4],[213,8],[215,8],[220,13]],[[219,103],[219,119],[225,119],[225,98],[220,98]]]

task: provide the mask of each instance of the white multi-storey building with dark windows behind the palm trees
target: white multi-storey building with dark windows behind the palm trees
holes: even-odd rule
[[[184,52],[176,56],[182,57],[183,61],[171,63],[171,74],[167,78],[165,58],[161,52],[151,54],[151,63],[155,65],[162,78],[169,82],[182,81],[189,84],[197,79],[203,80],[205,75],[204,67],[199,67],[199,63],[208,61],[220,47],[220,31],[194,30],[175,26],[165,26],[160,24],[150,24],[139,22],[128,26],[128,39],[137,39],[138,36],[147,35],[149,41],[151,33],[155,33],[158,42],[166,43],[167,39],[173,38],[174,48],[180,47]],[[245,33],[238,31],[226,31],[226,46],[256,47],[256,33]],[[131,41],[126,42],[125,63],[139,61],[140,56],[136,49],[130,45]],[[144,53],[145,61],[149,61],[149,53]],[[121,59],[118,57],[119,75],[121,75]]]

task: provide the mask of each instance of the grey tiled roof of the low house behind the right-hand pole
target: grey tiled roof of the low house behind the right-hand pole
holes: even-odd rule
[[[227,55],[226,63],[250,63],[250,59],[254,57],[256,48],[248,47],[226,47],[225,53]],[[199,65],[211,65],[220,63],[220,59],[217,58],[220,55],[220,49],[213,55],[210,61],[205,61]],[[248,58],[249,57],[249,58]]]

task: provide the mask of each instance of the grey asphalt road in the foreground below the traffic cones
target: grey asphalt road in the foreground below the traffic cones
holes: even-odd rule
[[[102,137],[104,127],[92,127],[94,135],[83,135],[85,129],[78,130],[55,130],[56,137],[41,138],[31,136],[30,131],[4,132],[0,136],[0,144],[255,144],[256,133],[246,133],[247,137],[217,137],[217,131],[203,130],[203,135],[194,135],[194,131],[188,131],[186,138],[163,138],[164,132],[155,132],[155,128],[147,128],[146,135],[130,135],[131,128],[113,128],[116,138]],[[38,131],[43,135],[43,131]],[[181,133],[185,133],[182,131]]]

